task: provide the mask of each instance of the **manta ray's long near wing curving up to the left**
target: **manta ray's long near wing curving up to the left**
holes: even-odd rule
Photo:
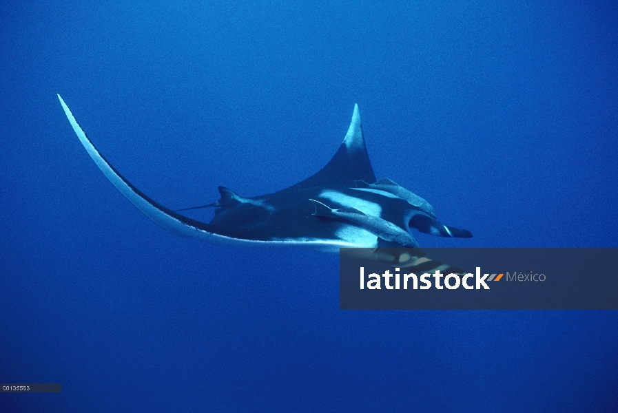
[[[322,248],[338,248],[338,246],[348,246],[337,242],[336,240],[318,240],[318,239],[289,239],[289,240],[271,240],[268,238],[261,239],[260,237],[239,237],[234,234],[226,233],[225,229],[205,222],[199,222],[187,218],[179,213],[163,207],[158,204],[139,189],[134,187],[131,182],[124,178],[112,165],[110,165],[105,158],[99,153],[99,151],[92,145],[90,139],[87,138],[84,131],[81,129],[68,106],[64,103],[64,100],[58,95],[60,103],[64,109],[64,112],[73,127],[73,130],[77,134],[83,147],[86,149],[96,166],[101,169],[107,179],[114,184],[114,187],[118,189],[125,197],[130,200],[132,204],[143,212],[148,218],[161,226],[163,229],[178,235],[181,237],[193,238],[195,240],[202,240],[207,242],[216,243],[231,243],[231,244],[246,244],[247,246],[315,246],[318,249]],[[307,202],[309,203],[309,202]],[[330,245],[332,244],[332,245]],[[341,244],[341,245],[340,245]]]

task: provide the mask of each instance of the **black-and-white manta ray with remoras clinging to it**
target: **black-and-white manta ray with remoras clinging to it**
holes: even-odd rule
[[[442,237],[471,237],[436,219],[433,207],[392,180],[376,181],[354,105],[335,156],[315,175],[275,193],[245,198],[219,187],[220,200],[176,211],[152,200],[117,171],[87,138],[64,100],[64,112],[96,166],[127,200],[163,229],[181,237],[244,246],[339,248],[417,247],[411,229]],[[214,208],[210,222],[181,211]]]

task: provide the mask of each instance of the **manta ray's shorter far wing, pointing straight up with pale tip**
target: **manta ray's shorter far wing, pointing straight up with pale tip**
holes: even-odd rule
[[[335,156],[315,175],[280,192],[326,186],[354,187],[355,180],[375,182],[375,174],[362,136],[360,112],[356,104],[348,132]]]

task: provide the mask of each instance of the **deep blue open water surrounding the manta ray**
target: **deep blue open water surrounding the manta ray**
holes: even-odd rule
[[[338,310],[336,255],[166,233],[56,98],[171,208],[307,178],[358,103],[474,233],[422,246],[617,247],[617,3],[210,3],[0,5],[0,382],[63,385],[0,412],[618,411],[616,312]]]

